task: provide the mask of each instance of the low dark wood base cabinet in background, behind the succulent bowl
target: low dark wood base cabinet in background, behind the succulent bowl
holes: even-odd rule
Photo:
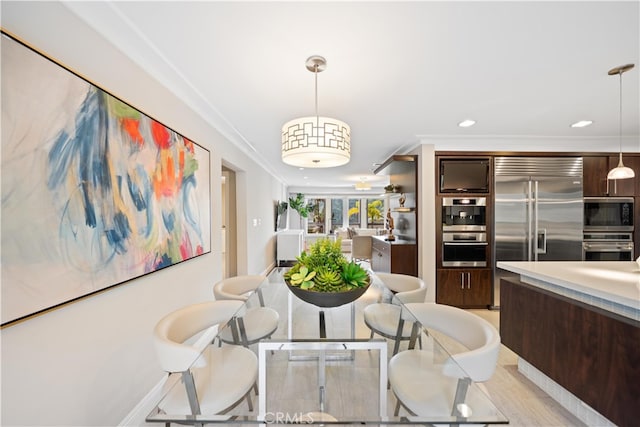
[[[372,237],[371,269],[381,273],[418,276],[418,248],[410,243],[391,243]]]

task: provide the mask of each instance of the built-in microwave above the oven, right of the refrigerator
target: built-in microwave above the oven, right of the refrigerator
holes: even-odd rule
[[[585,231],[633,231],[633,197],[585,197]]]

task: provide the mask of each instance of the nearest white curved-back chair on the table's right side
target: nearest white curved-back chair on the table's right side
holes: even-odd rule
[[[457,412],[460,403],[469,403],[472,409],[482,407],[473,404],[474,396],[467,396],[467,390],[472,381],[486,381],[495,372],[500,351],[497,329],[480,316],[448,305],[410,303],[406,308],[424,327],[453,338],[468,350],[437,366],[428,351],[408,350],[392,357],[389,382],[398,399],[396,415],[400,404],[418,416],[462,416]]]

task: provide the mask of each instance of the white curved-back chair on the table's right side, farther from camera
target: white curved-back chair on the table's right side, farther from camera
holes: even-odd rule
[[[364,309],[364,323],[374,333],[394,340],[393,355],[398,353],[400,342],[410,340],[413,317],[407,316],[399,302],[422,303],[427,296],[427,286],[419,277],[396,273],[376,273],[385,287],[395,293],[390,303],[371,304]]]

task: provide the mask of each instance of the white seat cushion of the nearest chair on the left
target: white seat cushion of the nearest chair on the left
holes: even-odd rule
[[[258,359],[245,347],[210,345],[201,358],[197,363],[199,367],[192,368],[191,372],[202,414],[218,414],[229,408],[247,394],[258,377]],[[168,414],[191,413],[180,375],[171,374],[165,383],[171,388],[159,408]]]

